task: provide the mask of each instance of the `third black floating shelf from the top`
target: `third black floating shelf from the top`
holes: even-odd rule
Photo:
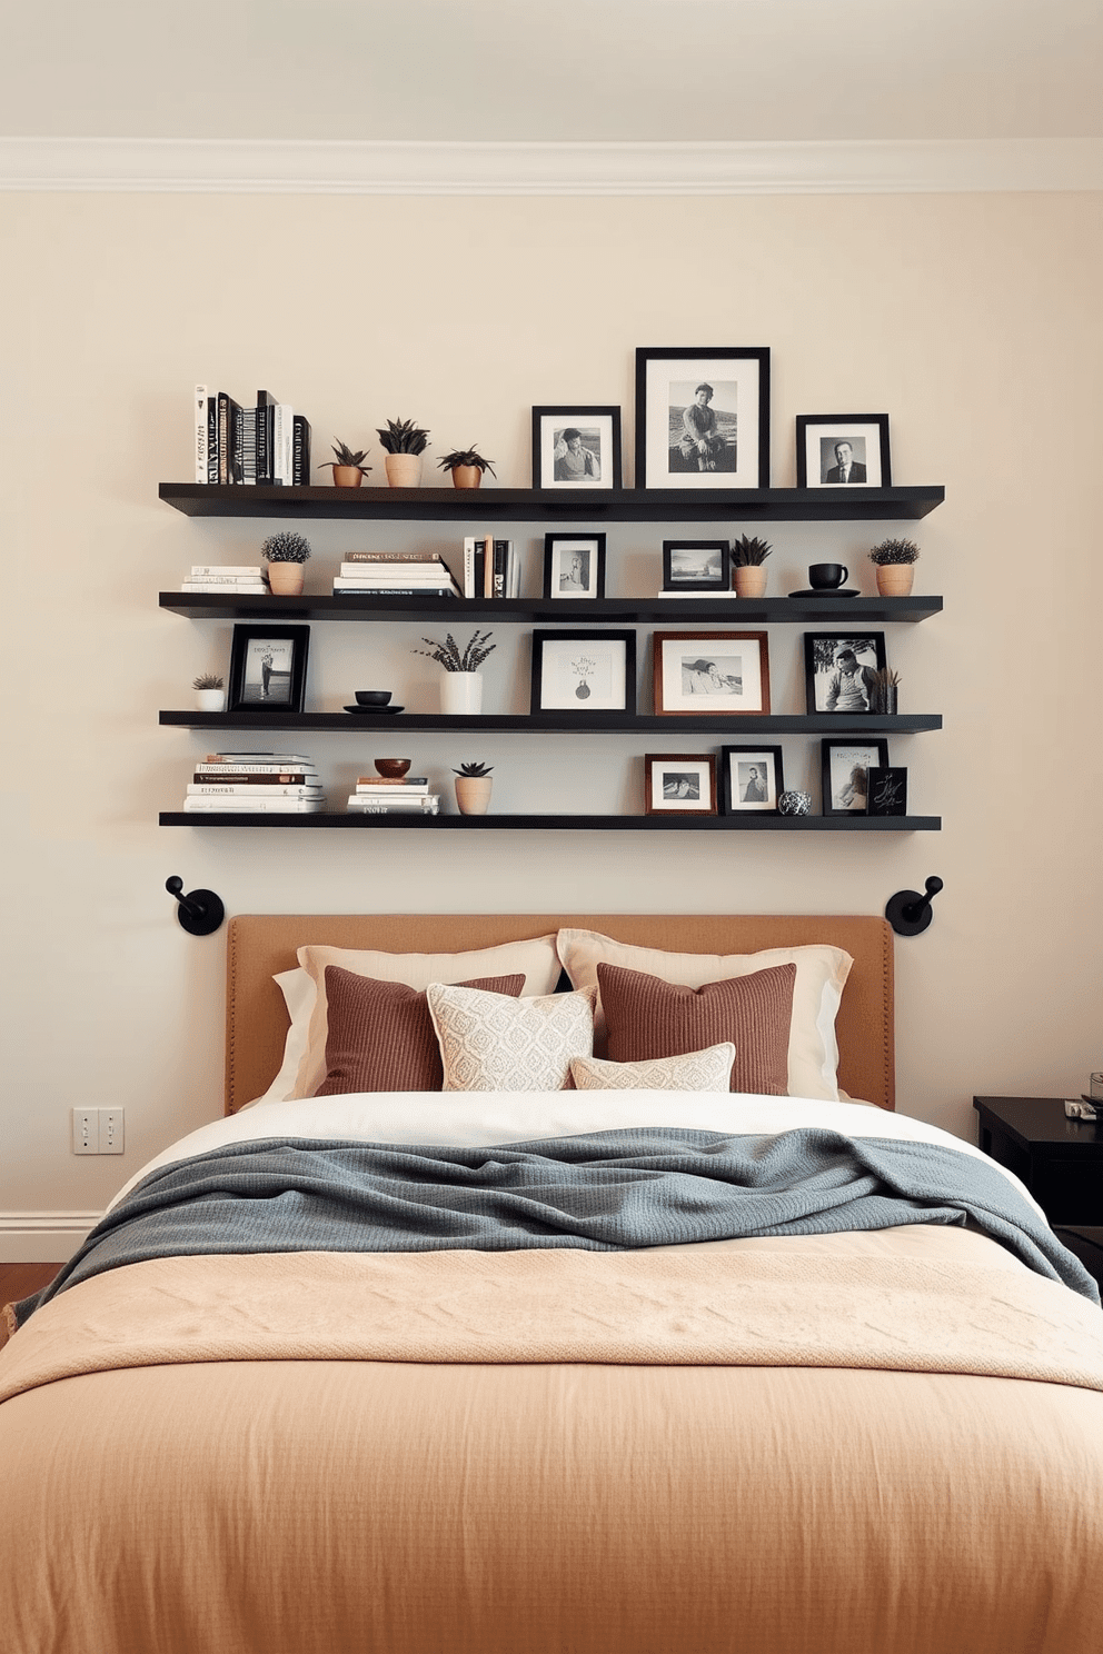
[[[458,731],[473,729],[485,734],[541,734],[554,731],[557,734],[663,734],[680,738],[683,734],[744,736],[744,734],[919,734],[924,729],[941,729],[941,713],[901,713],[896,718],[862,713],[812,713],[789,715],[777,718],[759,715],[741,715],[729,718],[719,715],[706,718],[698,715],[653,716],[632,713],[503,713],[478,716],[445,716],[443,713],[395,713],[361,716],[359,713],[198,713],[198,711],[164,711],[159,713],[162,724],[177,729],[339,729],[342,734],[379,734],[394,731],[395,734],[412,731]]]

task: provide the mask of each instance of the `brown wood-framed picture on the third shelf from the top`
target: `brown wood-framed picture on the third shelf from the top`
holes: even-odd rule
[[[653,648],[657,713],[769,713],[766,632],[657,632]]]

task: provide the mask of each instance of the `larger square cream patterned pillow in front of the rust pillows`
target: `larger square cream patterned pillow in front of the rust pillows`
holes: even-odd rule
[[[594,1054],[594,992],[506,999],[430,982],[445,1092],[562,1092],[574,1057]]]

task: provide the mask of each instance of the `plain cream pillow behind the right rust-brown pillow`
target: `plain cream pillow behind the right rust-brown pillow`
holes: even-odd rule
[[[556,939],[559,958],[575,989],[597,987],[599,964],[620,964],[628,971],[645,971],[665,982],[704,987],[733,976],[751,976],[776,964],[795,964],[792,1022],[789,1025],[789,1095],[838,1102],[838,1042],[835,1016],[853,958],[843,948],[809,944],[805,948],[762,948],[759,953],[666,953],[661,948],[637,948],[602,936],[600,931],[561,930]],[[594,1012],[594,1045],[605,1050],[605,1017],[600,997]]]

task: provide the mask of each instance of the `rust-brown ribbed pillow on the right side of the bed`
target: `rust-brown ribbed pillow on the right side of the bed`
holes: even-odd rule
[[[789,1093],[789,1024],[795,964],[731,976],[703,987],[663,982],[620,964],[599,964],[612,1062],[681,1057],[731,1040],[731,1090]]]

